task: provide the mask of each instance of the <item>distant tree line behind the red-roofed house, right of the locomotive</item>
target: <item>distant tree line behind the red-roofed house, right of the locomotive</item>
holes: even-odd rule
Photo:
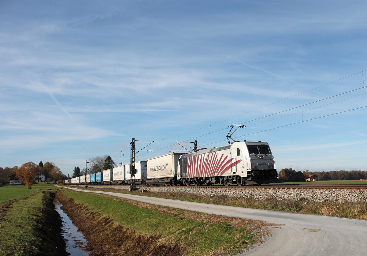
[[[281,182],[299,182],[305,181],[310,174],[315,174],[317,180],[367,180],[367,171],[328,171],[328,172],[310,172],[309,170],[295,171],[292,168],[284,168],[278,172]]]

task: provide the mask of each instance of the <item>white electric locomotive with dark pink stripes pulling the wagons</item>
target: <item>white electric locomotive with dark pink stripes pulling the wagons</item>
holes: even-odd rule
[[[239,141],[183,154],[177,170],[177,180],[183,185],[237,183],[241,186],[266,183],[276,176],[269,145],[261,141]]]

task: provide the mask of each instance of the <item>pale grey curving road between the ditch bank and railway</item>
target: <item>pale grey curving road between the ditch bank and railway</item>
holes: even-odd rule
[[[119,196],[136,201],[171,206],[204,213],[214,213],[245,219],[282,223],[284,226],[268,227],[272,237],[240,255],[251,256],[305,256],[305,255],[366,255],[367,221],[337,217],[275,212],[232,206],[185,202],[149,196],[119,194],[104,191],[92,192]]]

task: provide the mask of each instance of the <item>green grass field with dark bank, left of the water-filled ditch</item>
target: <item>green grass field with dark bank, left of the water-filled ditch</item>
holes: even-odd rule
[[[48,207],[50,188],[55,187],[46,183],[34,184],[32,189],[25,185],[0,187],[0,255],[55,253],[48,242],[57,239],[45,220],[53,217]]]

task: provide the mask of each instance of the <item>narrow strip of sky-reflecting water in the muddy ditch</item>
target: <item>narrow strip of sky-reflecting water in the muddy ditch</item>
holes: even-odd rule
[[[78,231],[78,228],[69,218],[63,210],[61,210],[62,204],[57,199],[54,200],[55,210],[60,214],[62,221],[61,235],[66,243],[66,252],[72,256],[87,256],[88,252],[82,248],[87,245],[86,237],[83,233]]]

